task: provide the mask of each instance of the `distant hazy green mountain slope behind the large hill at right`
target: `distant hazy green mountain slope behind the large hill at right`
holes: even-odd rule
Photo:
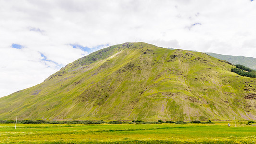
[[[221,54],[210,53],[210,52],[207,52],[207,54],[217,59],[227,60],[234,65],[241,64],[256,70],[256,58],[253,58],[253,57],[221,55]]]

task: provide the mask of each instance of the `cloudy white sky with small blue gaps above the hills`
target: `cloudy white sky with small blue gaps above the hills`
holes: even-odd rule
[[[256,0],[0,0],[0,97],[125,42],[256,58]]]

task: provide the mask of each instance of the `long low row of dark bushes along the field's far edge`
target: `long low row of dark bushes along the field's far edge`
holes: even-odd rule
[[[0,120],[0,123],[15,123],[15,120]],[[133,121],[46,121],[46,120],[18,120],[17,123],[21,124],[103,124],[103,123],[109,123],[109,124],[133,124]],[[201,121],[191,121],[191,122],[184,122],[184,121],[142,121],[142,120],[136,120],[137,124],[161,124],[161,123],[170,123],[170,124],[186,124],[186,123],[213,123],[210,120],[207,122],[201,122]]]

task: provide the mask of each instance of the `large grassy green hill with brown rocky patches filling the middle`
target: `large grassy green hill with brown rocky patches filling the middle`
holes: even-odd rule
[[[205,53],[110,46],[0,98],[0,120],[254,120],[256,78]]]

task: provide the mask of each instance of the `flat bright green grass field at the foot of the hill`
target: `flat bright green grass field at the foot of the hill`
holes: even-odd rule
[[[253,144],[256,126],[215,124],[0,124],[0,143]]]

